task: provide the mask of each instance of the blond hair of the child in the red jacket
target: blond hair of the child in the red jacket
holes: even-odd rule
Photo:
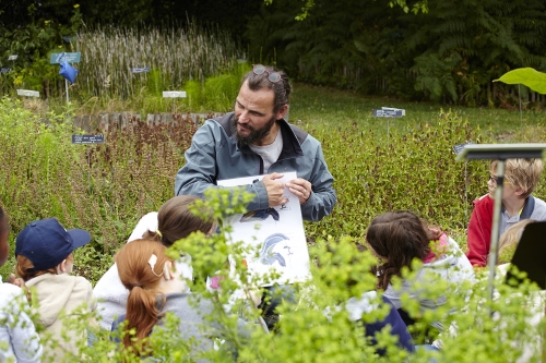
[[[492,173],[497,172],[497,160],[491,162]],[[505,180],[514,189],[521,189],[524,192],[521,198],[524,199],[533,193],[541,180],[544,165],[541,159],[507,159],[505,168]]]

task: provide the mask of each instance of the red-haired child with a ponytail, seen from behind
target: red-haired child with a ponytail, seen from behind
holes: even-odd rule
[[[215,338],[221,341],[225,337],[221,336],[219,326],[204,318],[213,314],[211,301],[201,298],[190,302],[191,293],[173,268],[174,261],[165,255],[166,250],[157,241],[136,240],[116,254],[119,278],[129,290],[129,297],[127,315],[114,322],[112,331],[127,320],[126,331],[133,330],[134,337],[124,335],[123,346],[139,355],[149,355],[152,352],[143,340],[156,326],[163,325],[163,317],[170,312],[179,318],[181,338],[192,344],[191,356],[185,359],[201,362],[200,352],[212,350]],[[238,319],[238,324],[239,334],[248,337],[245,323]]]

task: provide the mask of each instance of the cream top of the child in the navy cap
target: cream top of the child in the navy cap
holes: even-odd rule
[[[67,352],[78,354],[76,342],[86,339],[85,328],[88,324],[84,323],[80,325],[81,330],[73,331],[73,328],[64,327],[63,322],[76,316],[74,310],[83,304],[86,304],[85,310],[88,312],[96,308],[90,281],[81,276],[46,274],[26,281],[26,287],[36,291],[39,322],[46,327],[40,334],[43,362],[63,362]],[[63,334],[69,339],[64,339]]]

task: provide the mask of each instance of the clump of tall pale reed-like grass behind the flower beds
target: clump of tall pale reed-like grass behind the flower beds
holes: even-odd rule
[[[79,33],[75,48],[82,52],[78,87],[88,95],[127,99],[143,87],[153,94],[179,89],[233,69],[244,58],[229,33],[217,27],[157,29],[104,26]],[[150,73],[131,73],[132,68]]]

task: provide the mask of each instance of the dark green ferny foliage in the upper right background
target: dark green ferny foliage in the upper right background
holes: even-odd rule
[[[249,23],[250,57],[302,82],[468,106],[509,106],[510,89],[491,89],[491,81],[546,68],[543,1],[442,0],[426,12],[415,11],[420,1],[389,3],[318,0],[297,22],[299,9],[275,0]],[[406,14],[412,5],[415,14]]]

